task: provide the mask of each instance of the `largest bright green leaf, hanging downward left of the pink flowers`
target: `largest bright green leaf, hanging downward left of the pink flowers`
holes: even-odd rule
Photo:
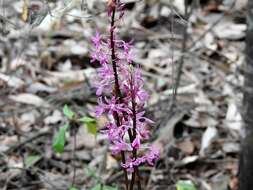
[[[64,125],[63,127],[59,129],[58,133],[55,135],[54,142],[53,142],[53,148],[55,152],[62,153],[64,151],[65,133],[68,128],[69,126],[67,124]]]

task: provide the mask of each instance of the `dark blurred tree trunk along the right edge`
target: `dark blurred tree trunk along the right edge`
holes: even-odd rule
[[[239,190],[253,189],[253,0],[248,0],[247,21],[243,99],[245,135],[241,141]]]

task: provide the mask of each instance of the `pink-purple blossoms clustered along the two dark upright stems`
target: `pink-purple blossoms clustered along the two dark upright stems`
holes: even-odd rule
[[[121,3],[116,7],[119,12],[117,21],[124,15],[123,8]],[[111,9],[109,6],[109,15],[112,14]],[[99,62],[101,65],[97,69],[98,80],[95,84],[96,95],[99,97],[96,115],[109,116],[111,122],[105,126],[103,132],[108,134],[112,154],[124,152],[126,159],[121,166],[133,172],[134,167],[140,164],[154,165],[159,158],[159,152],[152,145],[142,144],[150,136],[148,125],[153,123],[144,116],[145,111],[143,111],[149,96],[143,89],[144,81],[140,67],[134,68],[132,65],[132,42],[118,39],[116,30],[116,27],[110,28],[113,44],[98,31],[92,38],[94,51],[91,53],[91,62]],[[115,60],[112,60],[112,51],[114,51]],[[116,68],[112,64],[113,61]],[[117,80],[116,83],[115,80]],[[117,82],[120,94],[115,92]]]

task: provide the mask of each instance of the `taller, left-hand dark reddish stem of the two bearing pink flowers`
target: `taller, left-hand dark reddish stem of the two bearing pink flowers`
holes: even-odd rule
[[[114,23],[115,23],[115,12],[116,12],[116,0],[114,0],[115,6],[113,7],[112,10],[112,16],[111,16],[111,28],[110,28],[110,42],[111,42],[111,59],[112,59],[112,67],[113,67],[113,73],[114,73],[114,93],[116,98],[121,97],[120,93],[120,88],[119,88],[119,79],[118,79],[118,72],[117,72],[117,65],[116,65],[116,54],[115,54],[115,43],[114,43]],[[116,120],[116,124],[119,127],[120,126],[120,119],[119,115],[115,112],[114,113],[114,118]],[[125,154],[123,151],[121,151],[121,159],[122,163],[125,164],[126,158]],[[127,170],[124,168],[124,177],[125,177],[125,185],[126,185],[126,190],[128,190],[128,177],[127,177]]]

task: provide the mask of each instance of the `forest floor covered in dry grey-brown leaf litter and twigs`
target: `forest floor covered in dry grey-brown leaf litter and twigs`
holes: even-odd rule
[[[74,131],[63,154],[52,149],[54,135],[67,122],[65,104],[94,116],[91,84],[97,65],[89,53],[95,31],[108,29],[106,3],[50,1],[44,17],[48,7],[40,1],[30,0],[31,9],[27,0],[2,2],[0,187],[66,190],[74,168],[80,190],[94,186],[97,176],[121,187],[123,175],[104,135],[95,138],[79,126],[74,155]],[[154,168],[140,168],[144,189],[172,190],[178,180],[191,180],[198,190],[236,190],[246,1],[191,5],[189,19],[180,0],[125,2],[119,33],[133,39],[134,62],[141,65],[150,93],[147,114],[155,121],[151,141],[161,150]],[[106,121],[98,118],[98,128]]]

